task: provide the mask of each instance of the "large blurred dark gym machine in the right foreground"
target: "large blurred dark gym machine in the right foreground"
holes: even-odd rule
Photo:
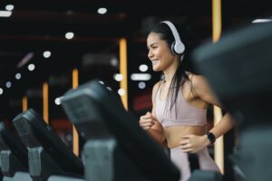
[[[228,32],[193,52],[222,105],[238,123],[234,170],[247,181],[271,180],[272,23]],[[238,168],[238,169],[237,169]]]

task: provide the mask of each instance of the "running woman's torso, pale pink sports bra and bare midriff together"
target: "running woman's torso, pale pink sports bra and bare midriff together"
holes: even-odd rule
[[[167,91],[160,85],[156,94],[155,112],[162,124],[169,148],[176,148],[184,135],[203,135],[206,132],[207,104],[195,98],[191,92],[191,84],[187,81],[180,91],[175,105],[170,110],[166,102]],[[164,111],[168,106],[170,112]]]

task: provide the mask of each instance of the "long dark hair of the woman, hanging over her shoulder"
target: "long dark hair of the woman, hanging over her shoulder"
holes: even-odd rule
[[[179,31],[179,25],[178,24],[174,24],[174,25],[177,28],[177,30]],[[166,41],[169,48],[171,49],[171,44],[175,41],[175,39],[174,39],[173,33],[170,30],[170,27],[167,24],[163,24],[163,23],[157,24],[151,30],[151,33],[157,33],[160,36],[160,39]],[[183,33],[182,34],[180,33],[181,42],[184,43],[184,45],[185,45],[185,52],[183,52],[182,55],[179,55],[180,56],[180,64],[179,64],[179,67],[170,82],[170,90],[168,91],[168,95],[167,95],[167,104],[168,104],[168,106],[170,104],[170,110],[175,105],[175,102],[178,97],[178,93],[180,91],[180,88],[183,86],[183,84],[186,81],[189,81],[191,83],[191,81],[189,80],[189,76],[186,73],[186,71],[189,71],[186,66],[186,64],[187,64],[186,62],[187,62],[188,55],[189,55],[189,53],[188,53],[189,47],[187,46],[188,45],[187,40],[184,37],[182,37],[182,35],[183,35]],[[182,60],[181,60],[181,56],[182,56]],[[161,80],[160,81],[160,86],[161,86],[161,82],[165,81],[163,74],[161,75],[160,80]],[[191,87],[191,89],[192,89],[192,87]],[[158,90],[160,90],[160,89],[158,89]],[[168,108],[168,106],[166,106],[165,108]],[[177,113],[177,110],[175,112]]]

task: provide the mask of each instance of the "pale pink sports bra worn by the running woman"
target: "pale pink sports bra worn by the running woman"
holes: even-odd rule
[[[165,100],[160,100],[160,89],[156,94],[156,116],[164,128],[173,126],[204,126],[207,124],[207,110],[202,110],[189,105],[189,102],[183,97],[180,89],[177,100],[170,110],[164,110],[166,106]],[[170,110],[170,111],[169,111]],[[177,112],[176,112],[177,111]]]

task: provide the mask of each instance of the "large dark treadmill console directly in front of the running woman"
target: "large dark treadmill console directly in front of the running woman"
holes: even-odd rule
[[[67,91],[64,111],[87,140],[83,155],[86,181],[179,180],[175,167],[119,96],[98,81]]]

